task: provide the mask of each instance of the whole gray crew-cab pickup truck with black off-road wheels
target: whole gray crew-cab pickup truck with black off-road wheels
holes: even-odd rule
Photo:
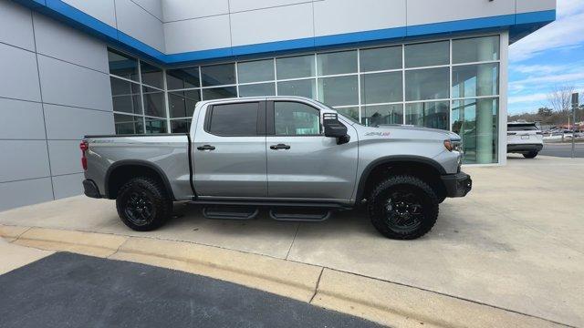
[[[304,97],[201,101],[188,134],[86,136],[83,187],[116,200],[121,220],[151,231],[189,200],[210,219],[326,220],[367,206],[391,239],[430,231],[438,204],[463,197],[460,138],[406,126],[365,127]]]

